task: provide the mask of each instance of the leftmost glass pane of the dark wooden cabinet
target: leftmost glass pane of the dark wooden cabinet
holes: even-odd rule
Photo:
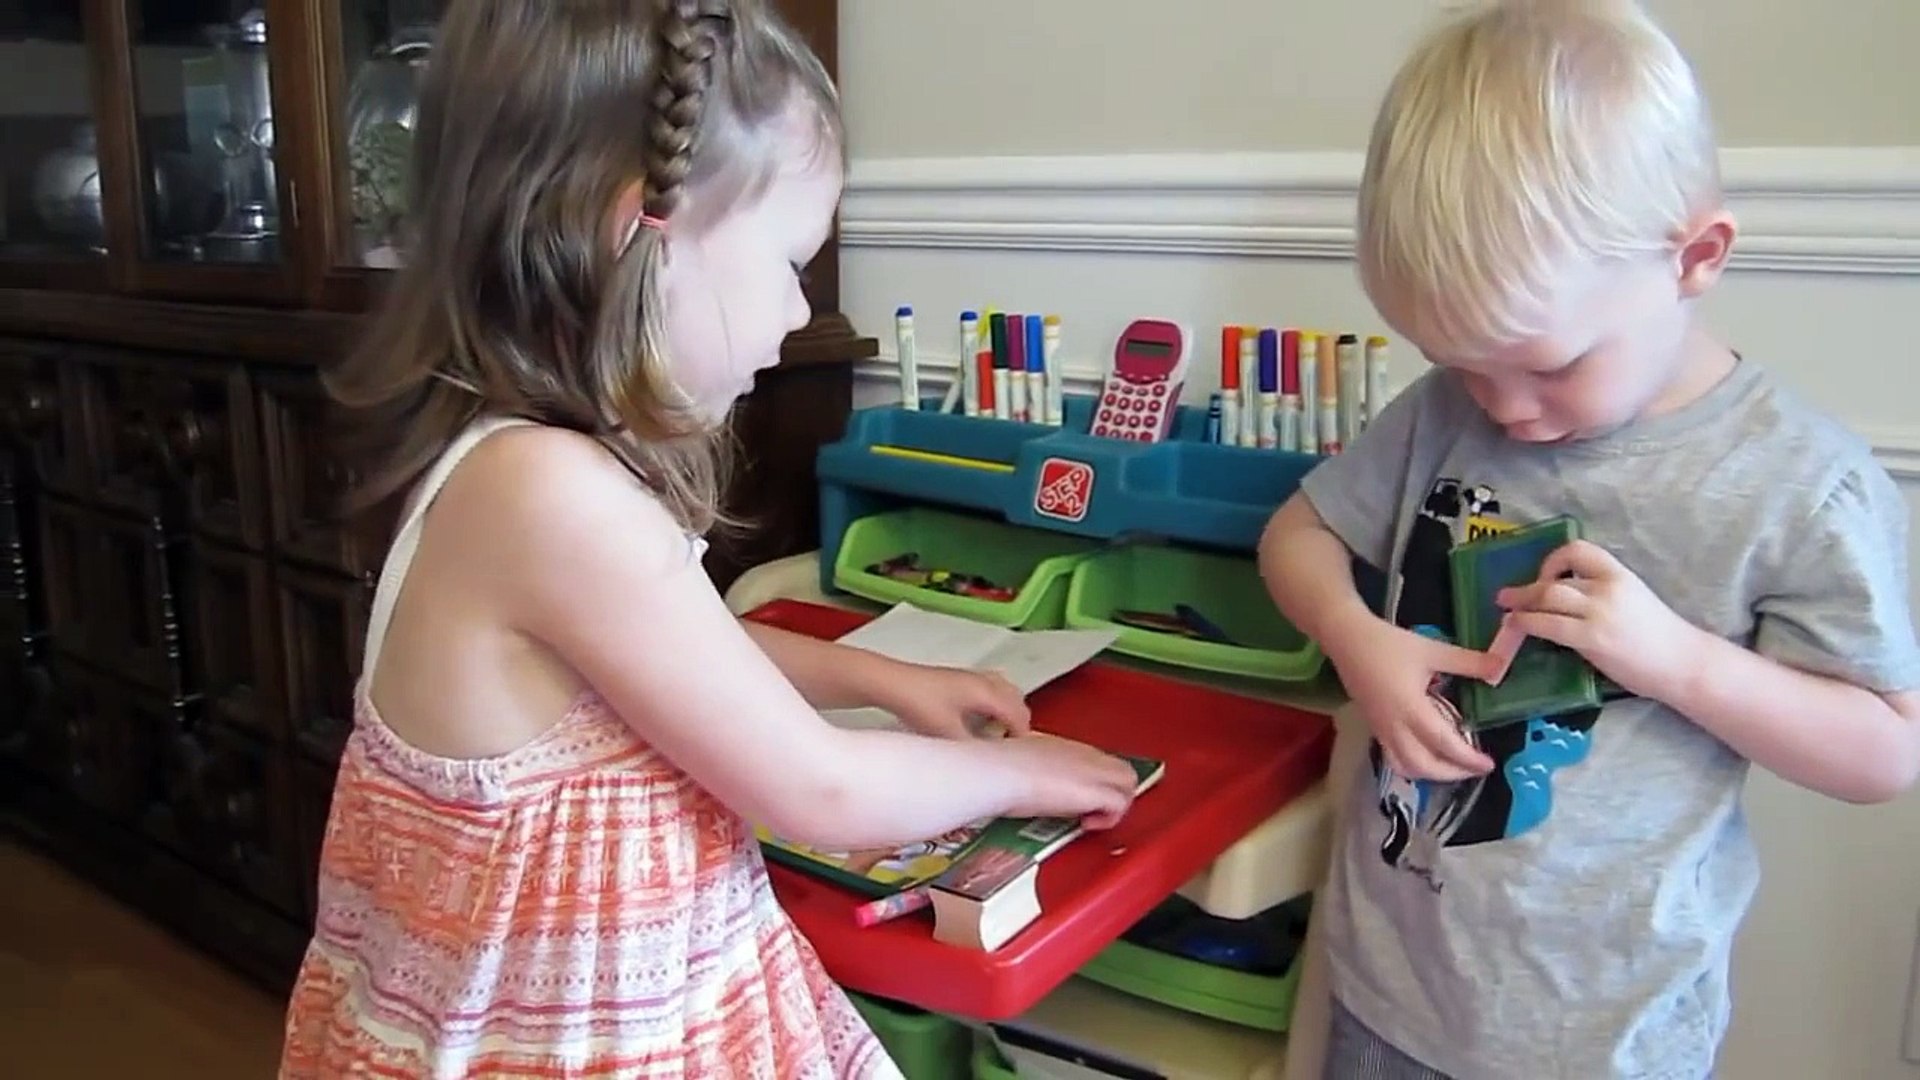
[[[108,254],[92,63],[75,0],[0,0],[0,259]]]

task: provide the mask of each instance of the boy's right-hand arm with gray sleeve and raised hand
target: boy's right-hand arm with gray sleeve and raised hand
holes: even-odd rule
[[[1860,465],[1789,550],[1755,605],[1753,648],[1688,623],[1586,542],[1555,552],[1536,584],[1501,603],[1521,630],[1582,651],[1784,780],[1857,803],[1891,799],[1920,774],[1905,500]]]

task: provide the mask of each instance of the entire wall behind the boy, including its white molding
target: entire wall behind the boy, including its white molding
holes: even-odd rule
[[[1202,348],[1229,321],[1377,329],[1350,261],[1356,150],[1390,52],[1434,6],[843,0],[854,327],[891,354],[893,309],[912,304],[927,373],[958,352],[947,327],[962,307],[1060,313],[1081,379],[1135,315],[1187,319]],[[1653,8],[1705,48],[1745,227],[1709,319],[1862,430],[1920,509],[1920,63],[1907,56],[1920,4]],[[1096,10],[1154,27],[1092,31]],[[983,27],[1079,37],[973,63],[954,42],[979,50]],[[1730,44],[1736,27],[1753,37]],[[1248,86],[1240,106],[1202,102],[1198,79],[1140,75],[1156,54]],[[1008,69],[1039,86],[1010,90]],[[1413,365],[1396,354],[1396,382]],[[887,361],[868,375],[862,400],[885,400]],[[1204,402],[1206,365],[1196,379]],[[1855,809],[1755,776],[1749,807],[1766,880],[1736,955],[1724,1076],[1920,1080],[1920,1063],[1901,1063],[1920,796]]]

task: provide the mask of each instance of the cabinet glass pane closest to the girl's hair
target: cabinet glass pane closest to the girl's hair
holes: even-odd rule
[[[407,154],[420,77],[445,0],[340,0],[330,37],[328,129],[334,171],[336,267],[401,263]]]

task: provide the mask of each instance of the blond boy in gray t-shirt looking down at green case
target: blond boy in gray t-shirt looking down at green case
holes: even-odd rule
[[[1457,15],[1386,94],[1359,271],[1432,367],[1261,542],[1373,732],[1319,903],[1331,1078],[1709,1076],[1749,763],[1862,803],[1920,771],[1907,507],[1695,321],[1734,234],[1693,73],[1626,0]],[[1563,513],[1588,540],[1500,603],[1620,692],[1469,738],[1428,698],[1490,673],[1446,642],[1448,550]]]

